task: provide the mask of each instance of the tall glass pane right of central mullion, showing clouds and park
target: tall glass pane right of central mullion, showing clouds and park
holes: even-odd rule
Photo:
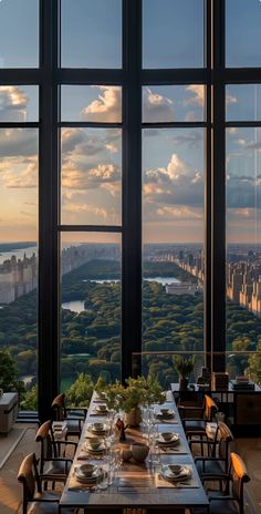
[[[203,349],[203,130],[143,133],[143,351]]]

